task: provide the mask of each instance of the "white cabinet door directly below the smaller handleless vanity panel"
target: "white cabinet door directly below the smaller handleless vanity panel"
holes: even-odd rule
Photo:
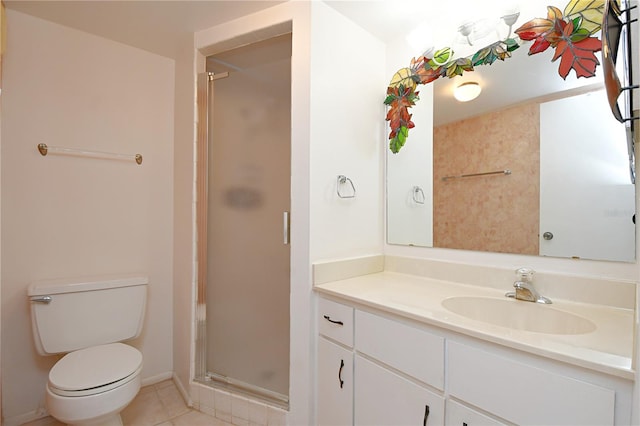
[[[358,426],[443,425],[444,399],[356,355],[355,421]]]

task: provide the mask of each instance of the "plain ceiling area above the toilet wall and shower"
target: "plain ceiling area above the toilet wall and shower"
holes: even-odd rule
[[[176,58],[180,41],[218,24],[259,12],[276,0],[8,0],[8,9]],[[11,25],[11,22],[8,23]]]

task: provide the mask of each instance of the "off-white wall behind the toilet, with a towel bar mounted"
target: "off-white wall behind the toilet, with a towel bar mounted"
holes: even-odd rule
[[[149,276],[143,378],[172,366],[172,60],[7,11],[2,93],[2,362],[6,424],[43,406],[55,357],[34,349],[34,280]],[[141,153],[42,157],[36,144]],[[97,366],[99,368],[99,366]]]

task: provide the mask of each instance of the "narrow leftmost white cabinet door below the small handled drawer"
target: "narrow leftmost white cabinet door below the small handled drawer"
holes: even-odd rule
[[[353,424],[353,353],[318,338],[318,425]]]

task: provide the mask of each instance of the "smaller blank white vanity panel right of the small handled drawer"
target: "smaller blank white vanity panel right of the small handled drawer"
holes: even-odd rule
[[[356,310],[356,350],[436,389],[444,389],[444,338]]]

